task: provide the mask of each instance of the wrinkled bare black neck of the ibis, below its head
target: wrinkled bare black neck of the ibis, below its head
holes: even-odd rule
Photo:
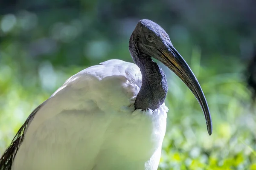
[[[168,84],[162,68],[151,57],[139,54],[134,42],[130,40],[129,51],[134,62],[140,68],[142,85],[135,101],[135,109],[155,110],[166,99]]]

